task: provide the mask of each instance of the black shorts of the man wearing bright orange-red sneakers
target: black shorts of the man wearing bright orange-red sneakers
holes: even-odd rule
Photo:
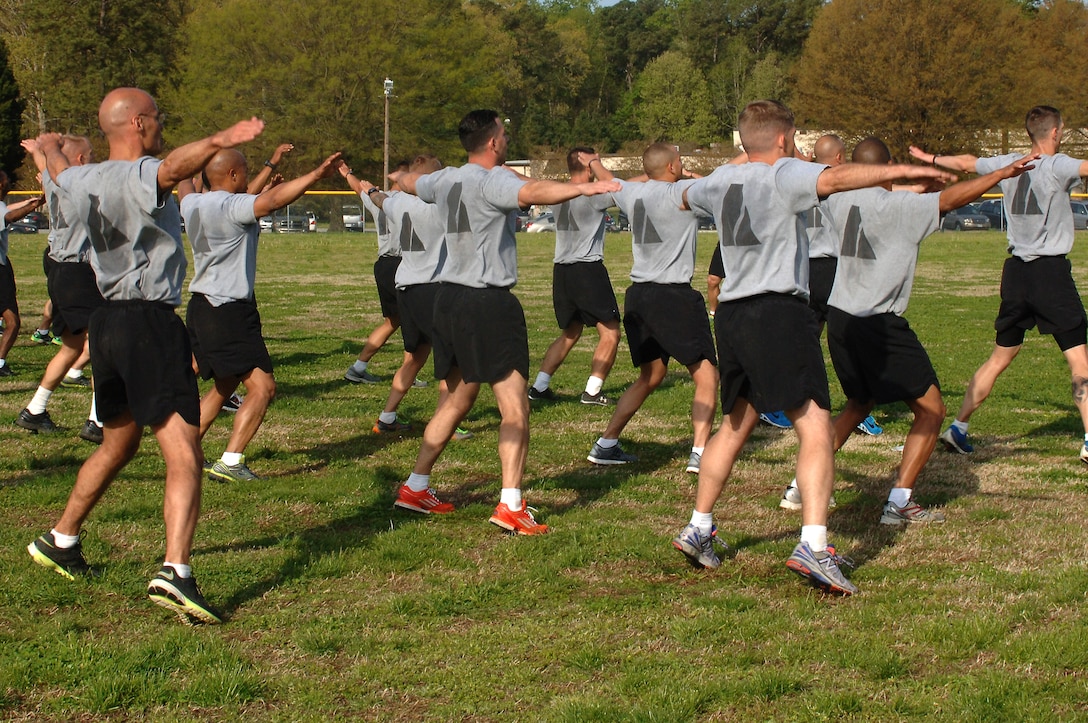
[[[509,289],[441,284],[434,296],[434,375],[458,367],[466,382],[492,384],[518,372],[529,378],[529,333]]]

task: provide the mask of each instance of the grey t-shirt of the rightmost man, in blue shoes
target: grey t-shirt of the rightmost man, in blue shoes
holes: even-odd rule
[[[1019,153],[980,158],[979,174],[993,173],[1022,158]],[[1065,153],[1043,155],[1035,167],[998,184],[1005,195],[1009,252],[1024,261],[1056,257],[1073,249],[1070,191],[1080,180],[1080,161]]]

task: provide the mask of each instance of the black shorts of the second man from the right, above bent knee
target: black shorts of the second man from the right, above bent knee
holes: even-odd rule
[[[929,354],[902,316],[853,316],[831,307],[827,346],[842,391],[854,401],[910,401],[940,388]]]

